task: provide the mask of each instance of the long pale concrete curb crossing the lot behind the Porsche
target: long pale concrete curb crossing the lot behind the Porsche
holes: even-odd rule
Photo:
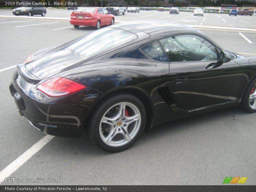
[[[69,22],[70,18],[61,18],[61,17],[41,17],[41,16],[5,16],[5,15],[0,15],[0,18],[4,19],[13,19],[13,20],[37,20],[37,21],[59,21],[59,22]],[[115,20],[115,23],[121,23],[125,21],[120,21],[120,20]],[[221,29],[221,30],[232,30],[232,31],[248,31],[248,32],[256,32],[256,29],[253,28],[238,28],[238,27],[218,27],[218,26],[207,26],[207,25],[187,25],[189,27],[194,27],[194,28],[204,28],[204,29]]]

